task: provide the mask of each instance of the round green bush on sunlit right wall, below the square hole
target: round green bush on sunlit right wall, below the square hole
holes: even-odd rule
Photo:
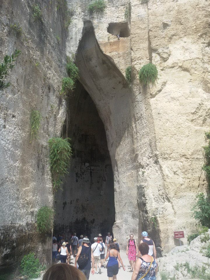
[[[154,84],[157,80],[157,74],[157,67],[152,63],[148,63],[140,69],[139,81],[143,85]]]

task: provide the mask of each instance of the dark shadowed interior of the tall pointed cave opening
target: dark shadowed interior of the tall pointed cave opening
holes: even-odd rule
[[[104,125],[90,95],[78,82],[67,106],[62,136],[71,138],[73,155],[62,190],[55,198],[55,232],[70,236],[112,231],[114,180]]]

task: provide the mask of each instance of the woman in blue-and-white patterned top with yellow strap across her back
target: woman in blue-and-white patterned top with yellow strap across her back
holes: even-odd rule
[[[148,255],[149,246],[147,243],[139,245],[141,257],[136,261],[131,280],[156,280],[157,261]]]

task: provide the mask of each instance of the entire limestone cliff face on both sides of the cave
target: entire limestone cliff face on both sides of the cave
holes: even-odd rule
[[[31,232],[38,208],[53,205],[47,141],[62,131],[66,104],[59,97],[60,80],[65,75],[65,56],[75,53],[79,82],[95,104],[106,133],[114,181],[113,233],[125,246],[130,233],[137,239],[147,230],[157,246],[169,251],[174,247],[174,230],[184,230],[186,235],[193,230],[190,209],[197,192],[206,190],[201,167],[204,132],[209,130],[208,1],[112,0],[107,1],[104,13],[92,15],[90,1],[67,2],[74,10],[67,40],[56,1],[40,2],[43,23],[38,24],[31,19],[30,1],[3,0],[0,4],[1,60],[15,48],[22,50],[9,76],[12,86],[1,92],[1,232],[8,233],[18,251],[22,246],[17,242],[19,232]],[[124,17],[127,8],[129,20]],[[10,31],[9,25],[16,21],[21,22],[27,41]],[[119,40],[115,33],[121,34]],[[138,71],[148,62],[157,66],[159,76],[156,85],[146,88],[139,84]],[[130,65],[131,87],[125,80]],[[78,92],[78,96],[84,95]],[[80,112],[77,104],[83,101],[74,102],[76,109],[68,114],[75,122],[73,114]],[[31,145],[29,115],[33,108],[41,111],[43,121],[40,138]],[[109,162],[108,157],[106,160]],[[84,172],[85,168],[90,169],[88,160]],[[71,183],[76,178],[68,180]],[[73,185],[77,187],[75,182]],[[86,186],[85,180],[80,185]],[[89,198],[86,190],[85,198]],[[62,213],[65,192],[56,197],[60,203],[56,223],[63,228],[76,221],[71,212]],[[78,194],[81,196],[81,189]],[[69,207],[74,211],[76,206]],[[88,212],[84,215],[90,218]],[[150,222],[153,216],[157,228]],[[8,250],[10,246],[4,243],[3,264]],[[23,248],[22,253],[28,250]],[[45,260],[49,251],[50,246],[39,256]]]

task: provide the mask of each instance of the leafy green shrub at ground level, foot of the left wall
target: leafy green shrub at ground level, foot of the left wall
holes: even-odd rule
[[[28,279],[37,278],[44,267],[41,266],[38,258],[35,258],[34,253],[24,255],[21,260],[21,274],[27,276]]]

